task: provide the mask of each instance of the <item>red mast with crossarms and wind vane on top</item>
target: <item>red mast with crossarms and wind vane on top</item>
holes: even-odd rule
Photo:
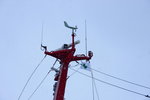
[[[56,76],[54,80],[56,81],[56,83],[54,84],[54,100],[64,100],[69,63],[71,61],[90,60],[91,57],[93,56],[93,53],[91,51],[89,51],[88,56],[85,56],[84,54],[74,56],[74,53],[76,51],[74,42],[75,37],[74,31],[77,29],[77,27],[70,27],[66,22],[64,23],[66,27],[72,29],[72,44],[71,45],[64,44],[64,46],[60,50],[51,52],[48,52],[45,47],[45,54],[53,56],[56,59],[59,59],[61,63],[60,70],[55,69]],[[71,49],[69,49],[70,47]]]

